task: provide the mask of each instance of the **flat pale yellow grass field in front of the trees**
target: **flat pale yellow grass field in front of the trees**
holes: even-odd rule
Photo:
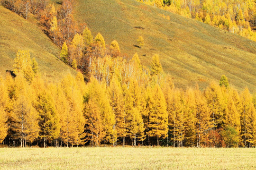
[[[0,148],[1,170],[255,170],[256,148]]]

